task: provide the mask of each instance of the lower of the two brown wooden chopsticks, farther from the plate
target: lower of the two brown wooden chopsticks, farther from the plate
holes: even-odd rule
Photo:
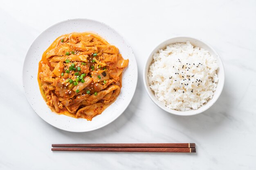
[[[195,153],[195,148],[52,148],[54,151]]]

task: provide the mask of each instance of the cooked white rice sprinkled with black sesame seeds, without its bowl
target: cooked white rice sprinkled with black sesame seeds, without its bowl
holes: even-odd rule
[[[148,82],[155,97],[168,108],[188,111],[213,97],[217,70],[217,61],[207,50],[193,47],[189,41],[175,43],[153,55]]]

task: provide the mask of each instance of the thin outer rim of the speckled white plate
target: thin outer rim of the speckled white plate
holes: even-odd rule
[[[47,120],[45,120],[44,118],[42,118],[42,117],[34,110],[34,108],[32,107],[31,102],[30,102],[29,99],[28,99],[28,94],[26,93],[25,84],[24,84],[25,61],[26,61],[26,59],[27,59],[27,54],[28,54],[28,52],[31,50],[32,44],[34,44],[34,42],[36,41],[36,39],[38,39],[38,37],[39,37],[40,35],[42,35],[43,33],[47,32],[47,31],[49,31],[52,27],[54,27],[54,26],[56,26],[56,25],[58,25],[58,24],[64,23],[64,22],[74,21],[74,20],[89,20],[89,21],[91,21],[91,22],[97,22],[97,23],[99,23],[99,24],[103,24],[103,25],[107,26],[108,28],[112,29],[113,31],[115,31],[115,33],[116,33],[117,35],[119,35],[119,36],[124,40],[124,43],[130,48],[130,50],[131,50],[131,52],[132,52],[132,55],[134,56],[134,59],[135,59],[135,60],[134,60],[134,63],[135,63],[135,70],[134,70],[134,71],[135,71],[135,75],[136,75],[136,78],[134,78],[134,80],[135,80],[135,88],[134,88],[133,92],[131,92],[132,97],[131,97],[130,100],[127,102],[128,105],[126,105],[126,107],[122,107],[121,113],[118,114],[117,116],[115,116],[110,122],[107,122],[106,124],[103,124],[103,125],[101,125],[101,126],[97,126],[97,127],[95,127],[94,129],[81,130],[81,131],[74,131],[74,130],[64,129],[64,128],[62,128],[62,127],[57,127],[57,126],[55,126],[54,124],[51,124],[51,123],[49,123]],[[100,128],[104,127],[104,126],[107,126],[108,124],[114,122],[117,118],[119,118],[119,116],[121,116],[121,115],[124,113],[124,111],[125,111],[125,110],[128,108],[128,106],[130,105],[130,102],[132,101],[132,99],[133,99],[133,97],[134,97],[134,94],[135,94],[135,91],[136,91],[136,89],[137,89],[137,84],[138,84],[138,65],[137,65],[136,57],[135,57],[135,55],[134,55],[134,52],[133,52],[133,50],[132,50],[130,44],[128,44],[127,41],[126,41],[126,39],[125,39],[118,31],[116,31],[114,28],[112,28],[112,27],[109,26],[108,24],[105,24],[104,22],[100,22],[100,21],[97,21],[97,20],[92,20],[92,19],[88,19],[88,18],[71,18],[71,19],[62,20],[62,21],[56,22],[55,24],[52,24],[51,26],[47,27],[45,30],[43,30],[42,32],[40,32],[40,33],[36,36],[36,38],[32,41],[32,43],[30,44],[30,46],[29,46],[29,48],[28,48],[28,50],[27,50],[27,52],[26,52],[26,55],[25,55],[25,58],[24,58],[24,61],[23,61],[23,65],[22,65],[22,76],[21,76],[21,78],[22,78],[22,86],[23,86],[22,88],[23,88],[23,91],[25,92],[26,99],[27,99],[27,101],[29,102],[29,105],[30,105],[30,107],[33,109],[33,111],[34,111],[42,120],[44,120],[45,122],[47,122],[47,123],[50,124],[51,126],[54,126],[55,128],[61,129],[61,130],[63,130],[63,131],[76,132],[76,133],[83,133],[83,132],[95,131],[95,130],[100,129]],[[56,113],[54,113],[54,114],[56,114]],[[61,116],[61,115],[60,115],[60,116]]]

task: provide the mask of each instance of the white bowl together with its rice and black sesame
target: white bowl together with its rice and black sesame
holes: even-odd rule
[[[192,37],[173,37],[159,44],[150,53],[143,74],[151,100],[181,116],[209,109],[219,98],[225,81],[218,53]]]

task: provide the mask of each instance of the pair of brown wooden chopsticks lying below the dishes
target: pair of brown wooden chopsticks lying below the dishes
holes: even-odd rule
[[[195,153],[194,143],[160,144],[52,144],[53,151]],[[57,147],[57,148],[55,148]]]

